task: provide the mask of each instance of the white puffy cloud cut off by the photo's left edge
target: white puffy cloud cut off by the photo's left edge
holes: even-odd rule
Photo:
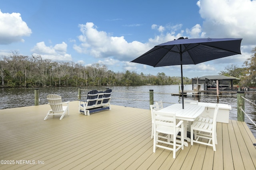
[[[0,44],[24,42],[22,37],[32,33],[19,13],[2,13],[0,10]]]

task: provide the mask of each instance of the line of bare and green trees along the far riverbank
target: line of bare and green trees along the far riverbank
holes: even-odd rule
[[[74,62],[56,62],[12,52],[0,58],[0,84],[2,87],[44,86],[140,86],[180,84],[181,77],[156,76],[136,72],[113,72],[104,64],[83,66]],[[184,77],[184,84],[191,79]]]

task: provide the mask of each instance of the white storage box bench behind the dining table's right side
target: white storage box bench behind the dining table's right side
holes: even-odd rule
[[[208,115],[209,117],[213,118],[216,103],[198,102],[198,105],[205,107],[204,112],[202,113],[202,116]],[[228,104],[218,104],[218,106],[219,106],[219,111],[217,115],[217,122],[228,123],[229,111],[232,109],[231,106]]]

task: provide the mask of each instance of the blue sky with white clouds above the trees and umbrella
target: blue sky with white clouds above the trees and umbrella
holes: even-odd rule
[[[180,66],[130,63],[179,37],[242,38],[242,55],[184,65],[183,76],[242,66],[256,47],[256,0],[1,0],[0,57],[105,64],[114,72],[180,76]]]

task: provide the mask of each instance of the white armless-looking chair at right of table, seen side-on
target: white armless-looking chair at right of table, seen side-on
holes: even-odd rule
[[[216,104],[215,110],[214,110],[214,116],[212,123],[206,123],[205,121],[194,121],[194,123],[191,125],[191,145],[193,143],[200,143],[203,145],[212,146],[213,150],[216,151],[217,143],[217,134],[216,134],[216,117],[218,113],[218,104]],[[193,132],[194,132],[194,138],[193,138]],[[204,133],[205,132],[205,133]],[[200,138],[208,139],[208,143],[199,141]],[[211,143],[212,141],[212,143]]]

